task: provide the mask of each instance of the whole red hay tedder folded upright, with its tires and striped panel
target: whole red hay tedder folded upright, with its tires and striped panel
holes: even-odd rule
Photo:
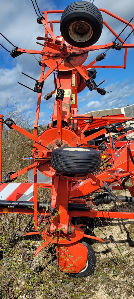
[[[33,1],[32,4],[38,15],[38,24],[43,25],[45,29],[44,36],[38,36],[38,42],[36,42],[43,48],[37,51],[15,47],[10,51],[10,55],[13,58],[23,53],[42,56],[42,59],[38,60],[41,67],[40,78],[39,80],[32,78],[35,80],[35,87],[32,91],[38,93],[33,134],[17,126],[10,118],[4,120],[2,115],[0,123],[1,133],[4,123],[10,129],[24,134],[33,141],[30,158],[32,163],[18,172],[8,173],[3,180],[0,179],[0,213],[33,214],[34,216],[35,231],[28,233],[21,231],[20,235],[41,234],[44,242],[32,256],[24,254],[23,260],[32,260],[49,243],[54,243],[61,271],[66,271],[73,277],[82,277],[90,275],[96,264],[93,249],[88,243],[81,242],[82,238],[91,238],[106,244],[114,242],[112,235],[104,239],[98,238],[85,234],[82,227],[84,225],[93,227],[95,217],[134,219],[134,213],[130,213],[124,204],[124,202],[134,201],[134,144],[127,144],[112,166],[100,171],[101,154],[98,146],[89,141],[102,134],[110,134],[115,123],[122,123],[130,118],[80,115],[77,113],[77,94],[87,86],[90,91],[96,90],[105,96],[105,89],[98,87],[100,84],[97,85],[94,81],[96,77],[94,69],[126,68],[127,48],[134,47],[134,44],[126,44],[126,39],[123,41],[120,34],[118,35],[110,28],[102,19],[101,12],[119,20],[125,24],[125,28],[130,26],[132,28],[130,33],[133,32],[134,25],[131,23],[132,20],[127,22],[105,9],[98,9],[93,3],[87,1],[74,2],[64,11],[43,11],[44,16],[41,15],[36,0],[35,5]],[[51,13],[62,13],[61,20],[47,21],[47,16]],[[54,35],[53,23],[60,23],[62,35]],[[105,45],[94,45],[102,33],[103,25],[113,33],[115,39]],[[124,65],[96,65],[97,61],[104,60],[109,49],[114,49],[113,51],[124,49]],[[102,50],[103,53],[88,65],[84,65],[89,52],[95,50]],[[49,70],[45,72],[46,67]],[[53,71],[54,90],[44,97],[49,100],[52,94],[55,94],[52,123],[49,123],[48,128],[38,135],[43,84]],[[88,121],[83,129],[79,126],[81,120]],[[90,129],[96,121],[102,123],[103,128],[85,137],[84,132],[87,127]],[[2,134],[0,136],[0,142],[2,142]],[[2,159],[1,152],[0,159]],[[15,186],[17,184],[11,183],[30,170],[33,170],[34,174],[33,184],[26,182]],[[39,182],[38,171],[52,180],[52,183]],[[125,183],[130,178],[132,186],[128,187]],[[115,182],[118,185],[115,185]],[[5,196],[7,187],[11,189],[9,188],[10,192]],[[26,190],[31,187],[33,187],[33,195],[29,196]],[[38,201],[37,189],[41,187],[52,188],[50,202]],[[124,188],[130,191],[131,197],[117,197],[113,193],[113,190]],[[124,205],[126,212],[94,210],[94,206],[100,203],[108,204],[112,200]],[[39,229],[41,224],[44,224],[42,230]],[[16,229],[16,232],[19,235],[19,230]]]

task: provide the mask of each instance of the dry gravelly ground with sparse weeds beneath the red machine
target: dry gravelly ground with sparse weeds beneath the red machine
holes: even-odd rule
[[[125,195],[124,191],[121,191],[120,195]],[[128,191],[127,195],[130,195]],[[127,203],[127,206],[130,212],[134,212],[133,203]],[[102,210],[102,206],[100,205],[98,209]],[[126,212],[119,203],[103,205],[103,209]],[[29,262],[22,263],[21,259],[24,252],[34,251],[41,244],[41,239],[40,237],[30,239],[25,237],[19,241],[17,239],[14,241],[17,245],[12,244],[10,251],[1,259],[0,299],[133,299],[134,220],[106,221],[102,218],[100,220],[98,218],[95,220],[94,234],[102,238],[112,234],[116,244],[113,242],[107,247],[106,244],[86,239],[96,254],[96,269],[91,276],[71,278],[62,273],[57,267],[54,249],[50,250],[47,253],[46,297],[43,297],[45,252],[42,251],[36,256],[30,267]],[[7,220],[5,221],[7,223]]]

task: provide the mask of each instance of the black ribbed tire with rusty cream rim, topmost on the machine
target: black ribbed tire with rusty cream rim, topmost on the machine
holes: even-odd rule
[[[91,33],[90,36],[87,35],[83,37],[84,34],[82,36],[82,33],[77,33],[78,31],[76,31],[76,28],[73,27],[74,22],[77,21],[86,22],[91,26],[91,28],[89,29],[86,28],[87,34]],[[99,37],[101,36],[102,27],[103,27],[103,19],[102,19],[101,12],[94,4],[89,3],[88,1],[77,1],[69,4],[65,8],[60,20],[60,32],[63,38],[65,39],[65,41],[68,42],[70,45],[79,48],[81,47],[85,48],[94,45],[99,39]],[[70,28],[72,28],[73,30],[72,32],[74,35],[74,39],[71,37],[72,35],[71,35]],[[69,35],[69,33],[71,36]]]

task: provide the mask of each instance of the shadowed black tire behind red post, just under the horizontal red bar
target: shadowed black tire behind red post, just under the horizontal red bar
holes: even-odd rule
[[[93,232],[94,229],[94,218],[90,217],[72,217],[71,223],[74,225],[78,224],[86,224],[87,226],[81,226],[80,228],[83,231],[90,231],[91,233]]]

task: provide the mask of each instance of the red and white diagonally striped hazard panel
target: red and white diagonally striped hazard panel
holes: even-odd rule
[[[0,185],[0,200],[33,201],[33,184],[3,183]]]

